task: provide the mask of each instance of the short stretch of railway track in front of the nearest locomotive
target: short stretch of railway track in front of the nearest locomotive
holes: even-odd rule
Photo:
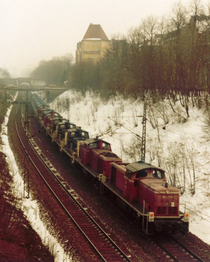
[[[173,261],[200,261],[204,262],[199,256],[194,254],[189,248],[184,246],[175,237],[170,235],[154,236],[153,241],[164,252],[170,256]]]

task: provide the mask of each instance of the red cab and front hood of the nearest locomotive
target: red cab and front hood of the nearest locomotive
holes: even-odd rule
[[[156,216],[179,216],[179,190],[166,183],[162,169],[136,162],[126,166],[124,178],[123,196],[129,202],[144,205],[148,212],[154,212]],[[172,195],[167,196],[167,192]]]

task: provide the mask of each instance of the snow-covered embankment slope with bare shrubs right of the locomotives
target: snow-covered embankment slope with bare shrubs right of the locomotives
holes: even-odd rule
[[[70,122],[89,132],[90,137],[103,138],[124,162],[141,159],[142,115],[144,102],[123,100],[121,96],[103,101],[87,93],[74,91],[61,94],[50,107]],[[147,99],[145,161],[160,166],[167,179],[180,188],[180,203],[190,211],[190,231],[210,244],[210,135],[204,132],[204,112],[190,106],[187,118],[177,101],[172,110],[168,100],[153,104]],[[184,207],[181,207],[184,211]]]

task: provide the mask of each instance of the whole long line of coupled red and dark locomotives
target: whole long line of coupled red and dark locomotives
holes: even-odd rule
[[[112,152],[110,143],[89,138],[87,131],[62,118],[35,93],[31,94],[31,104],[52,142],[87,178],[99,180],[124,208],[142,217],[145,233],[188,232],[190,217],[179,210],[179,189],[167,183],[162,169],[141,161],[124,163]]]

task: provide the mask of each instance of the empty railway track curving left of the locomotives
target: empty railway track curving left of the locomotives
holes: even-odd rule
[[[22,108],[20,109],[20,104],[18,104],[15,126],[21,144],[24,147],[30,162],[33,163],[33,166],[45,181],[54,197],[66,211],[68,217],[75,223],[82,236],[84,236],[89,243],[90,250],[86,250],[86,253],[91,253],[91,250],[94,250],[96,256],[100,258],[101,261],[130,261],[128,255],[126,255],[120,247],[112,241],[106,232],[86,212],[85,209],[87,206],[83,206],[82,203],[79,203],[70,193],[70,187],[66,185],[65,181],[62,180],[62,177],[53,169],[50,161],[42,155],[38,148],[36,148],[36,144],[34,144],[33,140],[30,138],[30,134],[29,139],[24,138],[25,132],[21,117],[22,115]],[[17,122],[20,123],[20,121],[22,122],[22,126],[17,125]],[[28,141],[30,142],[30,145],[28,145]]]

